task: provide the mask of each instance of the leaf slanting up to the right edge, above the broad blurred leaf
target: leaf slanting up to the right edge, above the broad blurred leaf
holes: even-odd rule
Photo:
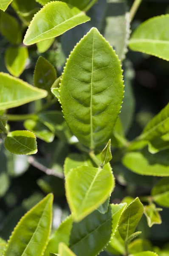
[[[139,140],[153,140],[169,132],[169,104],[144,128]]]

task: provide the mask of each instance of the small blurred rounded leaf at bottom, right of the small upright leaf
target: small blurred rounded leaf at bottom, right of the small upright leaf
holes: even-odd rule
[[[136,239],[129,244],[130,253],[138,253],[147,250],[152,250],[152,244],[148,240]]]

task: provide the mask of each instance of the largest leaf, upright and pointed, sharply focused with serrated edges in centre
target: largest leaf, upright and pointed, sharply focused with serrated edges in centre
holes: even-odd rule
[[[124,85],[120,61],[96,28],[70,54],[59,93],[65,120],[83,145],[93,149],[110,138]]]

